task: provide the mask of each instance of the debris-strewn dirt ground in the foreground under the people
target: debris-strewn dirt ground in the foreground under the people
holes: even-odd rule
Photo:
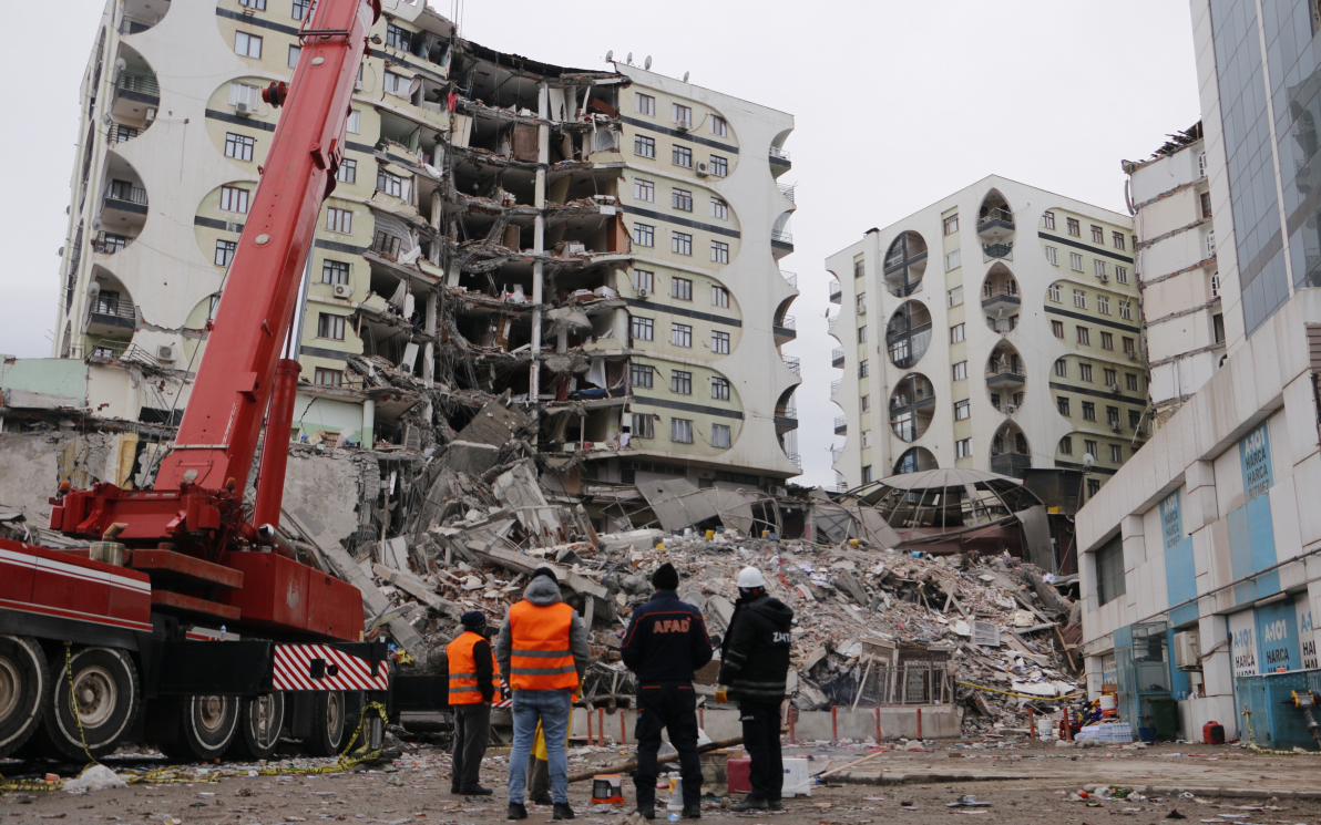
[[[612,748],[573,748],[571,772],[621,760]],[[869,755],[864,746],[828,744],[786,747],[786,756],[807,756],[812,772],[840,767]],[[160,767],[143,756],[107,760],[116,771]],[[287,764],[333,764],[333,760],[296,760]],[[3,763],[5,776],[40,774],[50,766]],[[243,771],[246,766],[219,766],[211,771]],[[256,766],[251,766],[256,767]],[[748,820],[782,825],[868,825],[917,822],[938,825],[967,818],[1049,820],[1052,825],[1099,825],[1112,816],[1133,817],[1135,825],[1169,825],[1161,820],[1186,818],[1186,825],[1321,825],[1321,762],[1314,755],[1264,756],[1238,747],[1160,746],[1147,750],[1054,748],[1020,743],[1012,748],[950,744],[931,752],[886,752],[859,766],[851,783],[816,785],[811,797],[786,800],[782,813],[733,814],[725,799],[707,788],[704,818]],[[503,779],[507,751],[491,751],[482,780],[495,788],[485,799],[449,795],[449,758],[440,748],[408,746],[402,758],[351,772],[326,775],[225,776],[206,781],[197,767],[194,781],[137,784],[87,795],[67,792],[0,795],[0,821],[44,822],[373,822],[404,825],[435,822],[476,825],[505,820]],[[63,770],[63,775],[73,771]],[[1144,780],[1144,781],[1137,781]],[[826,780],[831,781],[831,780]],[[881,784],[859,784],[881,783]],[[890,784],[886,784],[890,783]],[[897,783],[897,784],[896,784]],[[1136,788],[1143,800],[1074,799],[1085,787],[1118,784]],[[1193,788],[1192,793],[1178,788]],[[590,783],[571,787],[569,800],[579,820],[612,825],[631,804],[592,805]],[[1235,795],[1242,793],[1242,795]],[[1304,793],[1313,799],[1299,799]],[[985,808],[950,808],[948,803],[974,795]],[[625,784],[631,803],[631,784]],[[664,799],[664,792],[659,793]],[[1177,812],[1177,813],[1172,813]],[[528,807],[528,821],[550,821],[550,807]],[[658,818],[658,822],[663,821]]]

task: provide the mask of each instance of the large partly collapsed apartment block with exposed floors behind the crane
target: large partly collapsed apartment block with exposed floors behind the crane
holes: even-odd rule
[[[295,438],[425,447],[493,399],[583,475],[795,475],[793,117],[643,69],[563,69],[420,0],[373,29],[289,347]],[[110,0],[82,88],[54,355],[169,424],[308,0]]]

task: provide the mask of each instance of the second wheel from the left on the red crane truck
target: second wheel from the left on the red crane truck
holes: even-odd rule
[[[46,690],[44,711],[49,744],[73,762],[86,760],[87,752],[96,759],[112,752],[133,726],[141,706],[137,668],[127,653],[108,647],[83,648],[73,655],[67,667],[57,656],[54,665],[55,676]]]

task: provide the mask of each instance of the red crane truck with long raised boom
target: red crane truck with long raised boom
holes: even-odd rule
[[[281,738],[333,755],[365,702],[445,704],[437,677],[400,675],[363,642],[361,593],[279,529],[300,372],[281,350],[380,12],[320,0],[291,83],[263,90],[284,112],[155,483],[61,486],[50,528],[79,549],[0,539],[0,756],[82,760],[133,741],[260,759]]]

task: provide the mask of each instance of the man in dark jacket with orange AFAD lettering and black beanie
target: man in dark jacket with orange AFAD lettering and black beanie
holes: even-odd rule
[[[701,760],[697,758],[697,710],[692,672],[711,661],[711,640],[701,612],[679,601],[679,573],[663,564],[651,574],[655,595],[633,611],[620,652],[638,675],[638,813],[655,818],[657,751],[660,729],[679,751],[683,817],[701,817]]]

